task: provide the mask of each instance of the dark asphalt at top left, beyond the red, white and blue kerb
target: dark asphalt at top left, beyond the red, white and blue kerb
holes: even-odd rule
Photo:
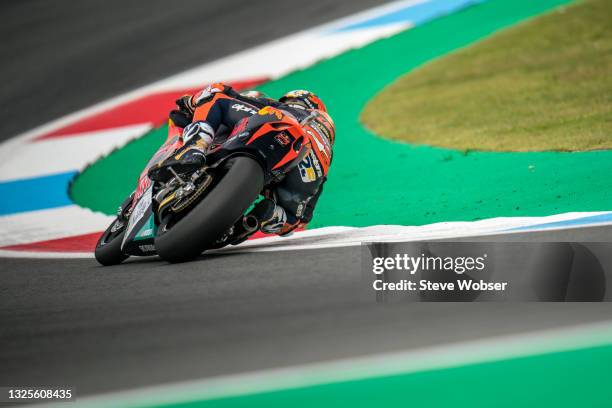
[[[193,66],[381,3],[2,1],[0,141]]]

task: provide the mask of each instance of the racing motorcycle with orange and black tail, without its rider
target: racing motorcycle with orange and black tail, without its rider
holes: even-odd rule
[[[309,153],[310,139],[302,127],[315,116],[298,122],[281,110],[262,108],[213,145],[204,165],[188,171],[168,165],[184,145],[182,129],[170,121],[166,142],[98,240],[97,261],[116,265],[130,256],[157,254],[184,262],[244,241],[259,230],[260,220],[248,210],[260,193]],[[161,171],[169,177],[155,181]]]

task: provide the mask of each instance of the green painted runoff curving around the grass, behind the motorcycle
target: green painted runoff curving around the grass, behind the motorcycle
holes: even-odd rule
[[[611,209],[610,151],[433,148],[385,140],[358,119],[378,92],[406,72],[567,2],[490,0],[261,86],[271,96],[312,89],[336,122],[334,162],[310,227],[423,225]],[[113,214],[165,131],[155,130],[89,167],[74,182],[73,199]]]

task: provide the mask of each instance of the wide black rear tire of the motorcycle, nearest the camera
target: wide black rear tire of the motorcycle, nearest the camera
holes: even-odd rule
[[[160,227],[157,254],[168,262],[196,258],[223,235],[255,201],[264,184],[257,161],[239,156],[226,163],[226,173],[204,199],[170,229]]]

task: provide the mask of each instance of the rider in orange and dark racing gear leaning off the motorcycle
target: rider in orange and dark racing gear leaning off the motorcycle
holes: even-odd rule
[[[311,140],[311,152],[265,191],[266,198],[250,213],[259,219],[261,231],[268,234],[286,235],[310,222],[327,179],[335,138],[334,123],[315,94],[296,90],[276,101],[257,91],[238,93],[228,85],[216,83],[176,103],[170,119],[184,128],[185,146],[170,163],[173,166],[201,167],[208,148],[222,144],[242,119],[265,113],[266,109],[278,109],[299,122],[310,117],[308,127],[303,129]]]

